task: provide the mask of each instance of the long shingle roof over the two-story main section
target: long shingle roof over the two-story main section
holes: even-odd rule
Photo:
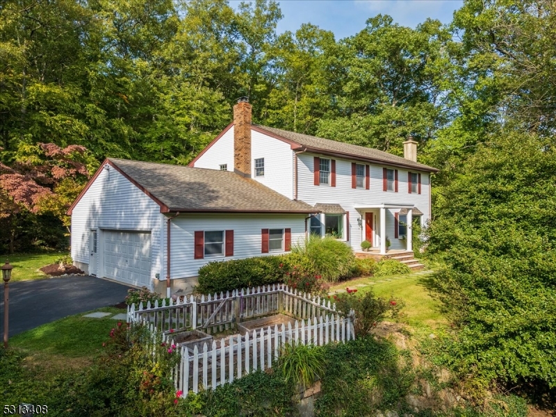
[[[260,124],[254,124],[253,126],[262,129],[263,131],[268,131],[286,140],[291,140],[300,145],[300,147],[309,148],[312,151],[321,150],[323,152],[332,152],[345,154],[346,156],[354,156],[363,159],[369,159],[372,161],[382,162],[386,165],[402,165],[407,167],[414,167],[418,170],[423,170],[427,172],[437,172],[436,168],[430,167],[423,163],[418,163],[410,161],[409,159],[402,158],[401,156],[396,156],[389,154],[388,152],[379,151],[378,149],[372,149],[359,145],[352,145],[351,143],[338,142],[336,140],[330,140],[325,138],[318,138],[316,136],[304,135],[303,133],[295,133],[291,131],[285,131],[282,129],[276,129],[275,127],[261,126]]]

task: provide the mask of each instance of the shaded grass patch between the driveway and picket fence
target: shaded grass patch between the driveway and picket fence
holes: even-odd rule
[[[124,310],[106,307],[97,311],[122,313]],[[116,327],[117,320],[83,317],[87,313],[69,316],[47,323],[10,338],[10,346],[26,355],[38,355],[38,359],[94,359],[108,340],[108,334]]]

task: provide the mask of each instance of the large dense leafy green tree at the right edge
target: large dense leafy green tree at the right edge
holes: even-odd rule
[[[458,325],[450,357],[485,385],[556,386],[556,142],[504,132],[439,191],[428,252]]]

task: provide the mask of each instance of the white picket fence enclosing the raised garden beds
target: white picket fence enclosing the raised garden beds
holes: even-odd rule
[[[202,350],[195,345],[193,351],[181,347],[181,360],[172,377],[177,390],[187,395],[190,391],[215,389],[233,382],[257,369],[270,368],[279,358],[284,343],[326,345],[355,338],[352,315],[341,316],[336,305],[328,299],[313,297],[282,284],[257,288],[244,288],[231,293],[186,296],[177,302],[170,299],[158,305],[142,303],[136,309],[128,307],[127,321],[149,327],[153,336],[161,332],[163,341],[170,345],[170,329],[174,332],[202,329],[215,334],[244,322],[272,313],[284,313],[296,318],[293,325],[255,329],[245,335],[237,334],[220,341],[204,343]]]

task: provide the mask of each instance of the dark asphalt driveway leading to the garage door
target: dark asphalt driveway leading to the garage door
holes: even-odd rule
[[[0,290],[0,334],[3,335],[3,281]],[[124,301],[124,284],[95,277],[70,276],[10,283],[10,336],[72,314]]]

